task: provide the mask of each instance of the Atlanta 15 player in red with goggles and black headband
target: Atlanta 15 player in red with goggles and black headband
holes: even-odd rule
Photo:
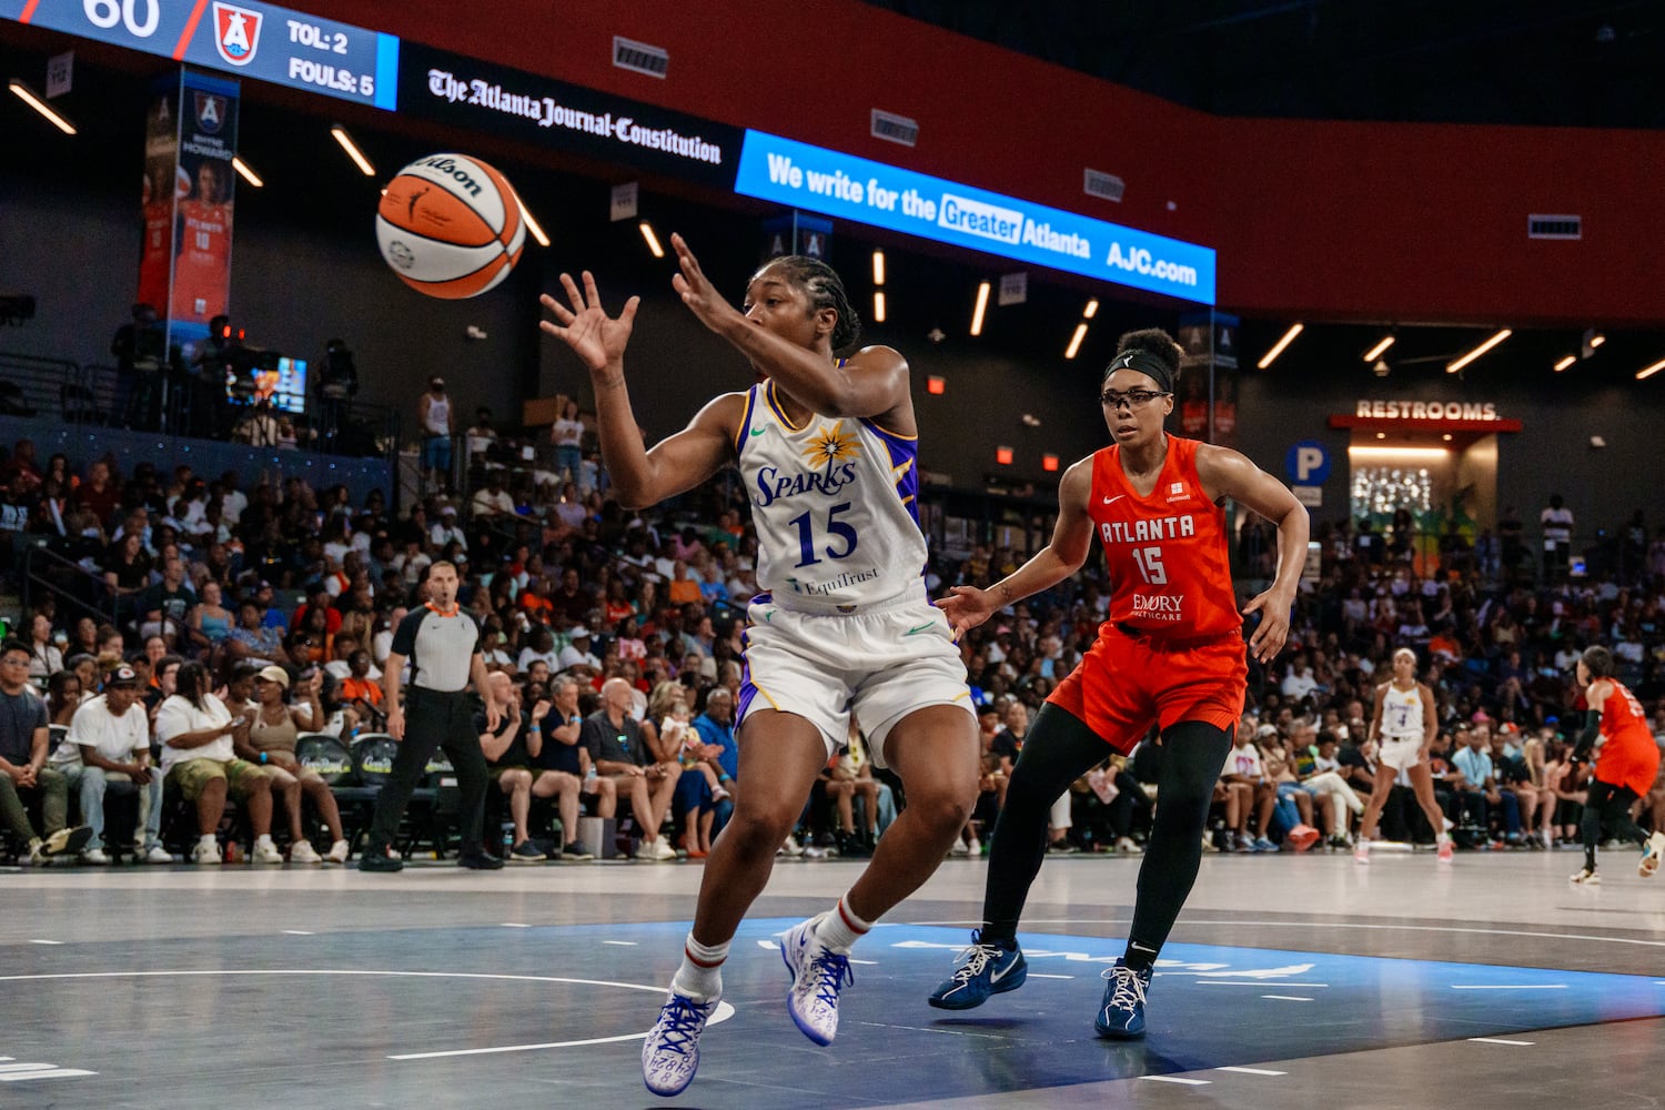
[[[1127,950],[1104,974],[1109,984],[1094,1022],[1101,1037],[1144,1035],[1151,969],[1197,879],[1209,799],[1244,707],[1249,669],[1220,501],[1277,521],[1277,581],[1242,611],[1259,614],[1249,652],[1260,662],[1284,647],[1307,556],[1307,511],[1282,483],[1237,451],[1162,429],[1177,371],[1179,346],[1166,331],[1124,334],[1101,394],[1114,444],[1064,474],[1052,543],[989,589],[956,586],[937,602],[964,632],[1074,574],[1094,536],[1114,591],[1099,639],[1024,739],[994,827],[984,925],[931,995],[934,1007],[971,1008],[1024,982],[1017,919],[1041,870],[1047,810],[1106,757],[1106,746],[1127,752],[1159,724],[1161,800]]]

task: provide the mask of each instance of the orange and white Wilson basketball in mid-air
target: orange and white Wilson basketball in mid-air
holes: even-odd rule
[[[526,243],[514,186],[466,155],[418,158],[388,181],[376,243],[400,280],[428,296],[480,296],[508,276]]]

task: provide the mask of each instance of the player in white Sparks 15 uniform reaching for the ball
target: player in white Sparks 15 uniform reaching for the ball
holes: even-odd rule
[[[839,276],[811,258],[778,258],[736,311],[671,238],[683,303],[759,374],[708,403],[683,431],[643,448],[624,388],[624,348],[639,298],[618,318],[596,283],[561,275],[568,305],[543,296],[589,368],[601,458],[619,501],[654,504],[739,468],[758,529],[758,584],[741,684],[741,790],[706,862],[699,907],[669,1000],[643,1045],[643,1078],[676,1095],[699,1065],[699,1033],[716,1012],[721,965],[774,852],[798,822],[816,776],[854,712],[869,756],[907,787],[907,807],[837,904],[786,934],[788,1010],[818,1045],[837,1032],[849,949],[947,855],[977,797],[977,721],[947,617],[924,586],[917,519],[917,424],[907,363],[887,346],[836,358],[857,320]]]

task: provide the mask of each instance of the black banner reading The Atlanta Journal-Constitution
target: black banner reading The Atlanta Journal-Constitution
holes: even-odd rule
[[[729,190],[741,130],[406,42],[400,111]]]

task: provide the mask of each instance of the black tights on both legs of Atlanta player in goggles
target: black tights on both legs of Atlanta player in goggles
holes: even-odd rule
[[[1230,747],[1230,731],[1200,721],[1182,721],[1162,734],[1156,820],[1127,934],[1126,959],[1134,969],[1156,962],[1197,880],[1209,800]],[[1017,919],[1046,855],[1047,812],[1104,756],[1104,741],[1081,719],[1051,702],[1041,707],[1012,769],[1006,809],[994,824],[982,900],[986,944],[1016,940]]]

